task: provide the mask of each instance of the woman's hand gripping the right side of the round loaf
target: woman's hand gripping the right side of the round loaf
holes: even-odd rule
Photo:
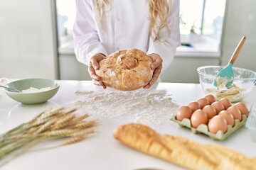
[[[159,55],[150,54],[149,57],[151,57],[151,59],[153,60],[153,63],[151,64],[151,69],[154,69],[154,72],[152,79],[149,81],[149,84],[146,84],[146,86],[143,87],[144,89],[149,89],[156,82],[161,73],[161,69],[163,68],[163,60]]]

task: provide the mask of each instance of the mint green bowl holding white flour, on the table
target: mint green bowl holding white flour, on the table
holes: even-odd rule
[[[28,90],[31,87],[36,89],[46,88],[44,91],[27,91],[27,92],[14,92],[9,89],[4,89],[6,94],[23,104],[38,104],[48,101],[60,88],[60,83],[51,79],[21,79],[12,81],[6,84],[7,87],[18,89],[19,91]]]

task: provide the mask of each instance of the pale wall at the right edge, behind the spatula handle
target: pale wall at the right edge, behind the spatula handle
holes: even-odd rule
[[[235,47],[243,35],[247,40],[242,47],[235,67],[251,69],[256,72],[256,1],[229,0],[223,34],[222,65],[230,60]]]

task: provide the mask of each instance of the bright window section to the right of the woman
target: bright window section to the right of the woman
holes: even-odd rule
[[[180,0],[178,51],[220,53],[225,0]]]

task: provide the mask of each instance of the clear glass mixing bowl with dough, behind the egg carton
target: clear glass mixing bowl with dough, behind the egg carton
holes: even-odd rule
[[[221,66],[203,66],[198,67],[199,81],[206,94],[212,94],[216,100],[220,98],[228,98],[231,102],[241,101],[250,93],[256,83],[256,72],[250,69],[242,69],[233,67],[234,78],[218,77],[217,74]],[[233,81],[233,84],[228,88],[225,84]],[[217,82],[217,86],[214,86]]]

